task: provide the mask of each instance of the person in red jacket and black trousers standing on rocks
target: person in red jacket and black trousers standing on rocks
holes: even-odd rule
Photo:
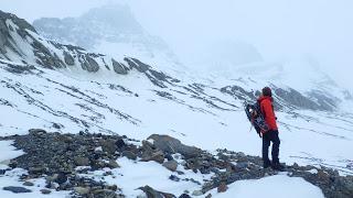
[[[260,111],[264,114],[265,122],[268,125],[268,131],[263,131],[263,161],[264,168],[272,167],[277,170],[282,170],[285,167],[279,163],[279,138],[278,138],[278,128],[277,128],[277,118],[274,111],[274,99],[272,92],[269,87],[263,89],[263,95],[258,98],[258,103],[260,105]],[[268,158],[268,147],[272,142],[272,163]]]

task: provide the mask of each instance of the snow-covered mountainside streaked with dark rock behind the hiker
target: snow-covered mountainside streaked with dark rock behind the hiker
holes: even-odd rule
[[[172,76],[138,58],[116,61],[47,41],[24,20],[4,12],[0,57],[1,135],[39,128],[141,141],[160,133],[210,152],[226,147],[260,155],[260,139],[248,132],[243,103],[256,100],[258,90],[269,85],[278,110],[281,161],[353,174],[353,114],[340,108],[349,98],[339,88],[302,91],[254,76]]]

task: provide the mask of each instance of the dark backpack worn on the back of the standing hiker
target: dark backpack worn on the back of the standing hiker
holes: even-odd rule
[[[261,138],[261,134],[268,131],[269,128],[265,121],[265,116],[261,112],[260,103],[258,101],[254,105],[245,103],[244,107],[247,119],[255,128],[257,134]]]

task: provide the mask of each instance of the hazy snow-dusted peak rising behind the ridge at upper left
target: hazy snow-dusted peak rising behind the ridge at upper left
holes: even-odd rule
[[[33,25],[50,40],[116,58],[133,55],[149,64],[180,64],[165,42],[148,34],[127,6],[95,8],[79,18],[43,18],[35,20]]]

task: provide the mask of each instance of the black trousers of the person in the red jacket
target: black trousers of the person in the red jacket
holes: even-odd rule
[[[278,138],[278,130],[271,130],[266,132],[263,135],[263,161],[264,163],[269,163],[268,158],[268,147],[272,142],[272,163],[279,163],[279,138]]]

